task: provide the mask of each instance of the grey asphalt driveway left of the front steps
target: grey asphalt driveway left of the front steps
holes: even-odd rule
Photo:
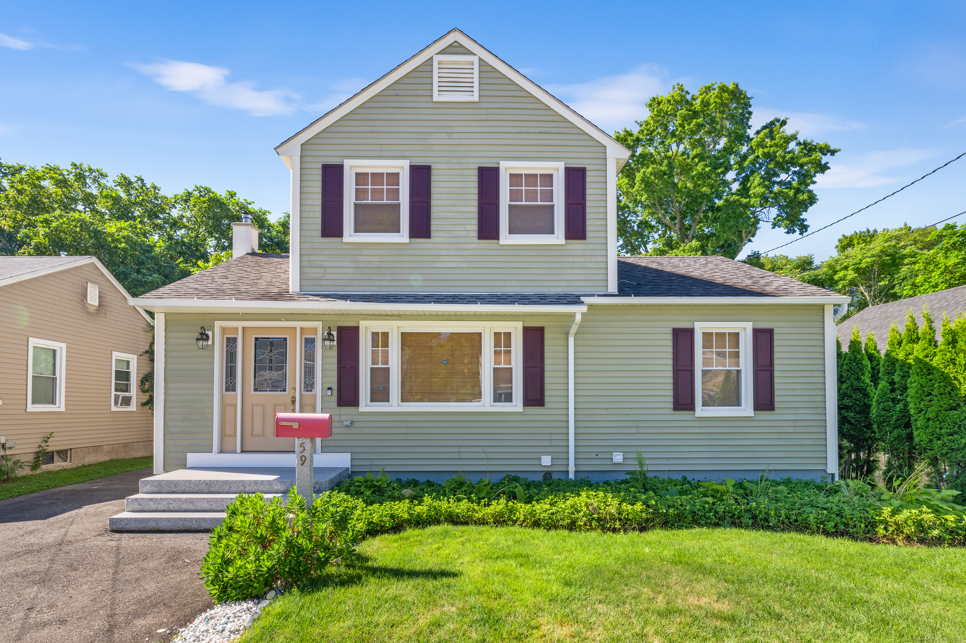
[[[207,534],[112,534],[151,469],[0,501],[0,641],[168,641],[212,606]]]

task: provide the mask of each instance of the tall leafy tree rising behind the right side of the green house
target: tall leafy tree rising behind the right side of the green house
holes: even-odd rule
[[[737,83],[691,94],[676,84],[647,102],[638,130],[615,138],[632,151],[617,182],[618,238],[625,254],[736,257],[771,224],[808,230],[815,177],[829,169],[827,143],[800,139],[774,119],[753,133],[752,98]]]

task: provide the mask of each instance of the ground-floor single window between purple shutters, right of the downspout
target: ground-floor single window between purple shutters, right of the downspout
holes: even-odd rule
[[[696,415],[753,415],[751,323],[695,323]]]

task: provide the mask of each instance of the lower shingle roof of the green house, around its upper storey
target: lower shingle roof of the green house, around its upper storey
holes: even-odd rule
[[[725,257],[619,257],[619,292],[598,296],[822,296],[828,291]],[[289,256],[251,253],[141,295],[145,299],[579,305],[570,293],[289,293]]]

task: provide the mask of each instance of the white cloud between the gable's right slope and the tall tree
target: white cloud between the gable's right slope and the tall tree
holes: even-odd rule
[[[653,65],[574,85],[546,85],[548,92],[604,131],[629,127],[647,118],[648,98],[670,91],[672,81]]]

